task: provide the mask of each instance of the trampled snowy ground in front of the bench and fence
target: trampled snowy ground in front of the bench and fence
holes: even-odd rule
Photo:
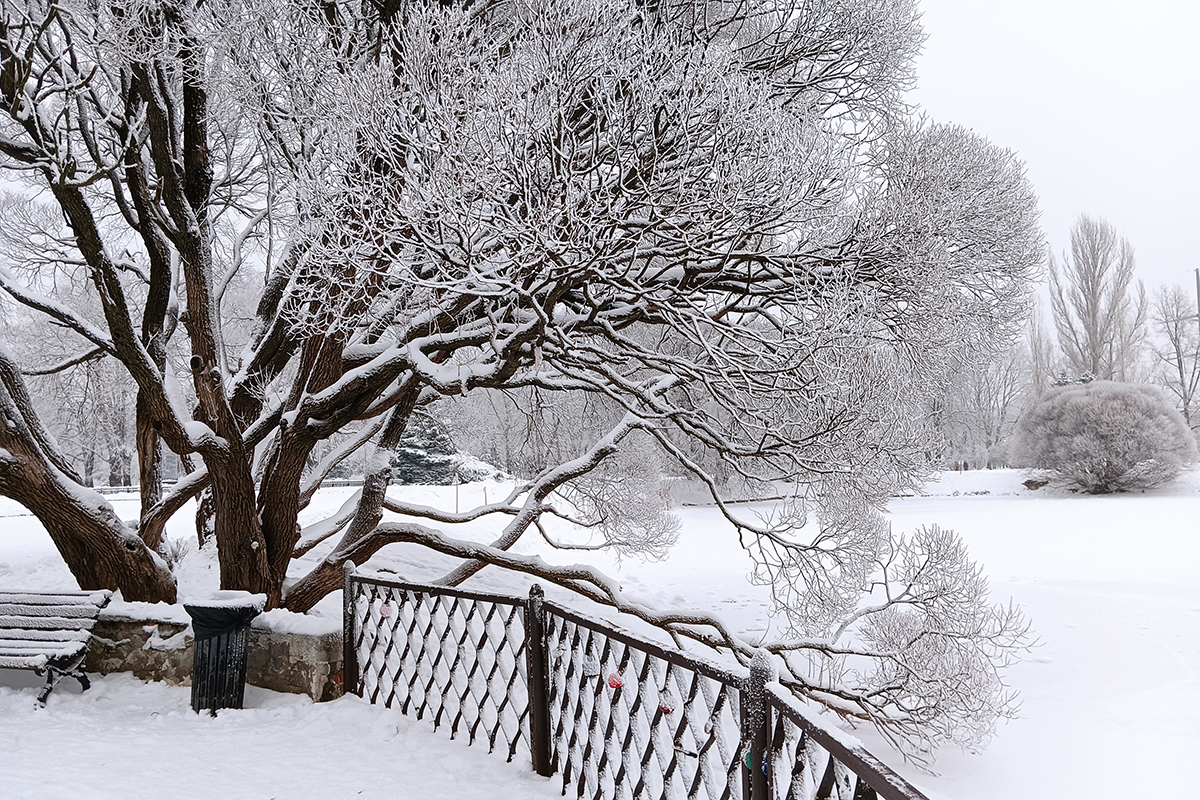
[[[28,676],[28,678],[26,678]],[[190,690],[124,674],[64,681],[35,709],[32,673],[0,686],[5,800],[548,800],[560,783],[358,697],[313,704],[253,686],[197,715]],[[70,679],[67,679],[70,680]]]

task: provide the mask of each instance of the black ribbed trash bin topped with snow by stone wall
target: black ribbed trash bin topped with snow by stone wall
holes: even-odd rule
[[[263,612],[265,595],[221,591],[211,600],[184,603],[192,618],[192,710],[240,709],[246,694],[250,621]]]

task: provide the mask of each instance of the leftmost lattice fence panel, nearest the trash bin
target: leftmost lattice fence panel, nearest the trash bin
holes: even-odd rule
[[[431,594],[354,582],[362,697],[398,706],[450,738],[482,738],[509,760],[529,748],[523,606],[517,599]]]

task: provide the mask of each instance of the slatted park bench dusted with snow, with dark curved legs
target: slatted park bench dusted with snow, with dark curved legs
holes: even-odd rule
[[[0,591],[0,667],[32,669],[46,674],[37,702],[71,675],[86,690],[91,682],[83,670],[88,642],[100,609],[112,593],[98,591]]]

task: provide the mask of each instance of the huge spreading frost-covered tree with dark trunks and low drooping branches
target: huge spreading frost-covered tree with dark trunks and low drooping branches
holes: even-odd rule
[[[130,374],[143,513],[79,488],[7,350],[0,492],[127,597],[173,595],[154,549],[204,491],[222,585],[272,606],[418,542],[463,559],[445,583],[521,570],[749,658],[714,618],[510,552],[550,518],[660,546],[653,493],[610,501],[611,465],[653,455],[758,559],[796,691],[976,741],[1008,708],[1019,618],[953,537],[894,539],[877,510],[924,468],[917,409],[1012,333],[1042,242],[1021,164],[902,102],[919,42],[907,0],[4,0],[0,167],[67,229],[53,258],[10,253],[0,288]],[[56,293],[66,265],[97,314]],[[386,497],[419,409],[520,392],[611,419],[488,505]],[[167,494],[162,446],[190,470]],[[356,504],[308,531],[337,543],[284,591],[314,543],[301,509],[365,447]],[[791,503],[739,518],[719,474]],[[468,519],[496,540],[438,528]],[[113,572],[86,572],[97,553]]]

